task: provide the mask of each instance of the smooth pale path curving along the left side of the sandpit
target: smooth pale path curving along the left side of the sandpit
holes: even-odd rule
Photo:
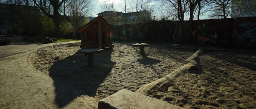
[[[49,76],[38,73],[28,61],[29,54],[39,48],[74,42],[80,41],[0,46],[0,109],[91,109],[96,107],[94,98],[88,96],[77,97],[70,103],[65,103],[67,104],[65,106],[57,105],[54,81]],[[73,88],[67,84],[58,82],[57,84],[67,90]],[[79,92],[68,94],[79,95],[77,93]]]

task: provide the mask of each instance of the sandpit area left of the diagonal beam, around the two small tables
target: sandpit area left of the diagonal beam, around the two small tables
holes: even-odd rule
[[[145,47],[145,56],[132,43],[114,43],[114,48],[94,54],[94,67],[87,66],[87,56],[77,53],[78,44],[42,48],[32,53],[29,61],[36,70],[50,76],[54,81],[70,84],[81,95],[98,100],[121,89],[136,91],[186,64],[195,51]],[[56,87],[58,98],[63,93]],[[67,101],[72,101],[70,97]],[[58,100],[57,100],[58,101]]]

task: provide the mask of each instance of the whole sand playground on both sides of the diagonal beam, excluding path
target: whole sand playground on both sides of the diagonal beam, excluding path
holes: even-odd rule
[[[72,87],[55,84],[56,102],[64,107],[76,96],[91,99],[96,109],[100,99],[128,89],[186,109],[256,109],[256,54],[215,50],[145,47],[145,55],[131,42],[114,42],[113,49],[94,54],[94,67],[78,53],[79,43],[49,46],[30,54],[39,73]],[[191,62],[194,67],[177,71]],[[154,87],[147,87],[153,81]],[[143,88],[145,87],[145,88]],[[65,96],[65,99],[63,99]]]

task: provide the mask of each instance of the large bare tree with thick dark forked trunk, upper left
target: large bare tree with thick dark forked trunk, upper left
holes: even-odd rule
[[[60,23],[60,15],[59,15],[59,8],[61,6],[61,4],[64,2],[64,0],[61,0],[61,2],[59,2],[59,0],[33,0],[35,5],[44,12],[44,14],[46,14],[48,17],[52,18],[54,24],[55,24],[55,28],[56,30],[58,30],[59,28],[59,23]],[[49,4],[52,6],[53,8],[53,15],[50,11],[46,10],[46,6],[47,6],[47,2],[49,1]],[[49,8],[51,9],[51,8]]]

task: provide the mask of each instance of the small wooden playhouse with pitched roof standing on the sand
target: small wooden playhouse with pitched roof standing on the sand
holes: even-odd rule
[[[112,48],[112,32],[114,29],[102,17],[96,17],[78,32],[81,34],[81,48]]]

